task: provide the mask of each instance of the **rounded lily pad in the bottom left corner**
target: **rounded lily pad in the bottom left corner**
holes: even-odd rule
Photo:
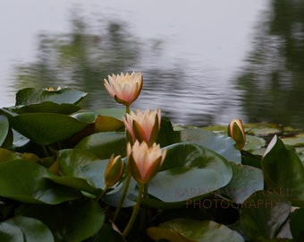
[[[5,242],[54,242],[50,229],[33,218],[16,216],[0,223],[0,240]]]

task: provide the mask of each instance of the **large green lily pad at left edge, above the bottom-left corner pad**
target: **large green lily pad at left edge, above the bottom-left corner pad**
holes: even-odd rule
[[[0,196],[23,203],[57,204],[80,197],[80,192],[45,178],[52,174],[29,160],[11,160],[0,165]],[[55,176],[55,175],[53,175]]]

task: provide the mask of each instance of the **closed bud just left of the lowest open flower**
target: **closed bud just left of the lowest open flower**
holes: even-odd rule
[[[123,173],[122,157],[120,155],[116,157],[112,155],[109,162],[107,163],[106,171],[104,175],[106,187],[114,186],[114,184],[118,182],[119,179],[122,177],[122,173]]]

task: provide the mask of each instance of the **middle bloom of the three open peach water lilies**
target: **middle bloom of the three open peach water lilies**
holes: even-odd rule
[[[122,121],[126,127],[127,137],[131,137],[131,143],[138,140],[139,143],[144,141],[150,146],[156,142],[160,129],[161,110],[147,109],[142,113],[138,109],[136,113],[131,111],[131,114],[126,114],[126,117],[122,117]]]

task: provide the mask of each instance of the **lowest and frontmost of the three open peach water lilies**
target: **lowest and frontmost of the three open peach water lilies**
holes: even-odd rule
[[[128,169],[131,176],[139,184],[147,184],[154,177],[165,160],[166,150],[162,151],[159,144],[151,147],[145,142],[136,141],[127,145]]]

